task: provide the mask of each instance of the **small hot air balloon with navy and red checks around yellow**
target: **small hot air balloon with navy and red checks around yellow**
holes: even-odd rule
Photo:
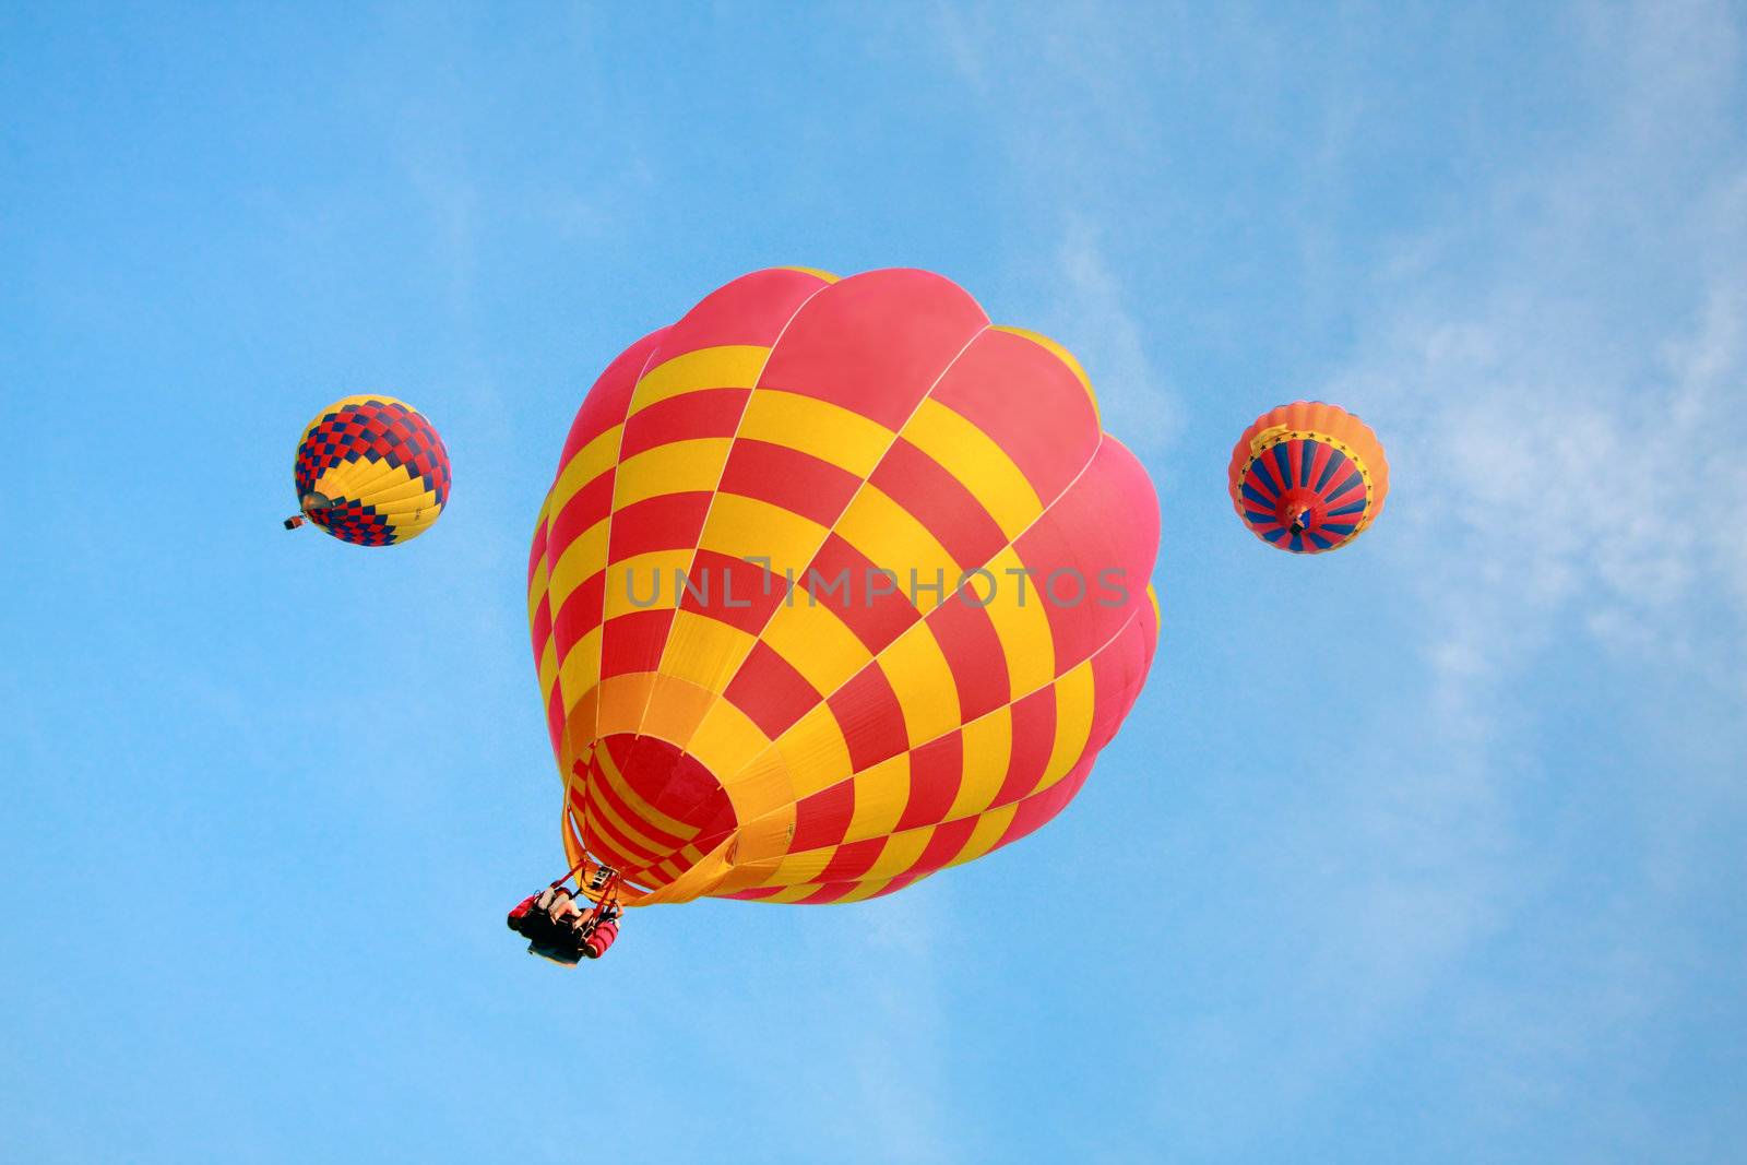
[[[346,396],[297,442],[299,514],[341,541],[386,547],[418,538],[449,501],[449,452],[418,409],[393,396]]]

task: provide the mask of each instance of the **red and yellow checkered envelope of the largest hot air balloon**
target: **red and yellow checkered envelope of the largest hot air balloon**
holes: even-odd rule
[[[571,873],[835,903],[1025,837],[1146,679],[1157,548],[1053,341],[926,271],[718,288],[599,376],[535,524]]]

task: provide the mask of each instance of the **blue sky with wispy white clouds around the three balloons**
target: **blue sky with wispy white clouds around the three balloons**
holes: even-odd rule
[[[0,1158],[1731,1160],[1744,52],[1716,3],[5,7]],[[559,861],[528,531],[594,374],[774,264],[1080,355],[1160,655],[1032,838],[557,973],[501,924]],[[451,508],[283,533],[365,389]],[[1296,396],[1392,465],[1317,559],[1225,498]]]

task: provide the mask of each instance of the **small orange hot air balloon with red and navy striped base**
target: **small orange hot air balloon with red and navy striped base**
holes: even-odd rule
[[[1263,541],[1293,554],[1347,545],[1377,520],[1389,463],[1345,409],[1300,400],[1270,409],[1232,449],[1232,505]]]

